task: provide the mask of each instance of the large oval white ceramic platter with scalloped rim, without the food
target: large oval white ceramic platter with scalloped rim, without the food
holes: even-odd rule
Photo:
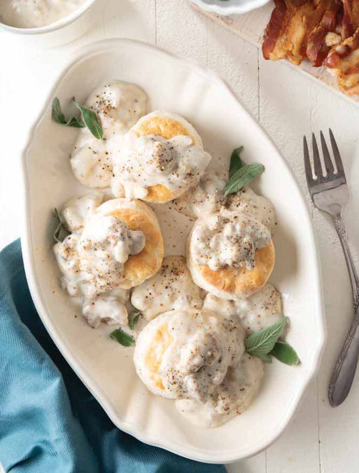
[[[197,128],[213,162],[225,162],[238,145],[247,162],[266,171],[260,189],[274,204],[278,230],[276,267],[271,282],[283,293],[291,327],[288,341],[301,364],[266,366],[261,393],[250,409],[216,429],[198,429],[171,400],[150,394],[136,376],[132,349],[107,338],[110,328],[91,329],[77,316],[61,290],[52,254],[54,206],[88,193],[73,178],[69,153],[77,131],[51,120],[51,100],[58,96],[69,112],[70,97],[83,102],[109,79],[136,82],[150,97],[150,108],[182,114]],[[219,160],[219,161],[218,161]],[[254,455],[273,442],[289,423],[324,348],[325,325],[319,260],[306,203],[285,161],[261,127],[238,103],[224,82],[192,62],[128,39],[90,44],[76,54],[44,102],[22,155],[25,222],[22,249],[35,306],[65,358],[114,423],[140,440],[204,462],[233,462]],[[166,226],[163,215],[160,222]],[[183,229],[181,219],[166,232]],[[185,237],[184,237],[185,240]],[[173,249],[170,235],[166,254]],[[91,413],[89,412],[89,415]]]

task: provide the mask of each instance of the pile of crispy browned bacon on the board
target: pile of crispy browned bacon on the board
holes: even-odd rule
[[[274,0],[263,36],[263,57],[309,59],[337,77],[348,95],[359,94],[359,0]]]

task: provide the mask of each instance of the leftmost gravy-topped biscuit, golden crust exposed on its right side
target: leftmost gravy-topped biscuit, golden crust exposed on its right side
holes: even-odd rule
[[[103,245],[97,248],[97,240],[105,241],[109,251]],[[98,249],[104,253],[99,254]],[[158,219],[148,205],[136,199],[113,199],[100,205],[79,243],[89,277],[107,290],[141,284],[158,271],[163,253]]]

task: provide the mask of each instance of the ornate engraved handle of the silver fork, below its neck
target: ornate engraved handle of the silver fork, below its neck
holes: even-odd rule
[[[329,402],[332,407],[339,406],[347,397],[354,379],[359,356],[359,281],[358,275],[350,254],[347,231],[341,214],[334,218],[345,261],[348,266],[350,280],[353,287],[354,320],[335,364],[331,382],[329,384]]]

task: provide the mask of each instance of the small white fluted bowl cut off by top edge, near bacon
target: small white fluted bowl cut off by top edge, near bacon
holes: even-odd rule
[[[204,11],[228,15],[247,13],[256,8],[263,7],[270,0],[190,0]]]

